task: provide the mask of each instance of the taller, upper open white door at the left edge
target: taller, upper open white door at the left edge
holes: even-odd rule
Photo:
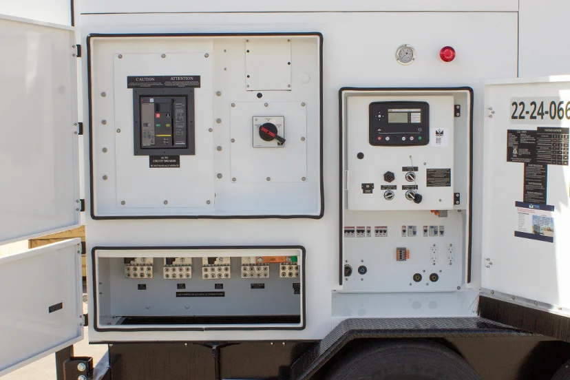
[[[0,244],[79,223],[74,29],[0,15]]]

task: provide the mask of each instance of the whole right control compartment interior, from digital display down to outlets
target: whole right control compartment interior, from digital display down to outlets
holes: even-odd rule
[[[463,288],[468,89],[341,91],[342,291]]]

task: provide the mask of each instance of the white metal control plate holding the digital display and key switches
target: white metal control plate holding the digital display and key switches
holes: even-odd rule
[[[392,92],[393,93],[393,92]],[[430,105],[430,144],[408,147],[383,147],[370,145],[368,141],[370,112],[373,102],[425,101]],[[453,96],[391,95],[377,92],[374,96],[348,96],[346,101],[346,173],[349,210],[435,210],[454,207],[454,101]],[[443,131],[440,145],[436,145],[436,130]],[[446,135],[449,136],[446,136]],[[363,153],[364,158],[357,158]],[[465,152],[466,153],[466,152]],[[402,167],[418,167],[416,180],[405,180]],[[429,169],[450,169],[450,187],[427,187]],[[395,179],[386,182],[383,174],[394,173]],[[363,193],[361,185],[373,183],[371,194]],[[402,186],[416,184],[423,200],[416,204],[405,198]],[[384,199],[381,185],[396,185],[392,200]]]

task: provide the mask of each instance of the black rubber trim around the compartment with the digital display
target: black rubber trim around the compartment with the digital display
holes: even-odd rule
[[[473,230],[473,114],[474,114],[474,96],[471,87],[341,87],[339,89],[339,285],[343,284],[343,262],[342,262],[342,240],[344,237],[344,171],[343,160],[344,154],[342,150],[342,95],[345,91],[467,91],[469,92],[469,220],[467,227],[467,284],[471,282],[471,260],[472,260],[472,230]]]

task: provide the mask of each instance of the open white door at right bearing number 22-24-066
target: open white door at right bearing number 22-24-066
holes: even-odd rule
[[[483,317],[570,341],[570,76],[485,87]]]

